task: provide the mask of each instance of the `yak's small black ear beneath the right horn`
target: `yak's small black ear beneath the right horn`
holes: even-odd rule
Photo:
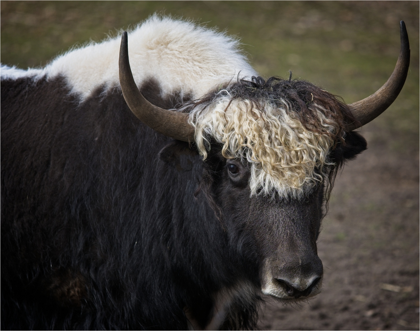
[[[344,137],[344,143],[339,143],[331,152],[331,161],[336,164],[342,164],[346,160],[355,159],[357,154],[360,154],[365,149],[367,149],[365,138],[357,132],[347,132]]]

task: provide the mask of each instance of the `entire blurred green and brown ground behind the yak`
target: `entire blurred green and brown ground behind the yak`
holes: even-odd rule
[[[360,131],[368,150],[336,180],[318,255],[324,291],[301,308],[267,299],[262,329],[419,328],[418,1],[2,1],[1,63],[46,65],[153,13],[226,31],[265,77],[302,78],[346,103],[375,92],[411,46],[407,81],[389,109]]]

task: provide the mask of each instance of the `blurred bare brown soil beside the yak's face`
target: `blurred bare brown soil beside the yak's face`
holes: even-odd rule
[[[385,131],[366,125],[367,151],[337,177],[318,240],[323,292],[301,308],[268,299],[261,329],[419,329],[417,142]]]

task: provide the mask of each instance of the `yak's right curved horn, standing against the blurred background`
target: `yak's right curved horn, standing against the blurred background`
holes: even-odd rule
[[[353,117],[357,122],[346,125],[346,131],[352,131],[360,128],[362,125],[369,123],[382,114],[396,99],[402,87],[405,78],[407,78],[408,67],[410,64],[410,44],[408,42],[407,29],[404,21],[399,22],[401,49],[399,51],[398,61],[395,65],[394,72],[388,78],[383,86],[371,96],[348,104]]]

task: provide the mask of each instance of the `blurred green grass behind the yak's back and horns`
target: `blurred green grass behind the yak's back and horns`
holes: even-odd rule
[[[3,64],[43,66],[70,47],[135,26],[153,13],[237,36],[262,76],[304,78],[347,103],[376,91],[399,54],[399,21],[411,45],[405,86],[371,140],[418,149],[418,1],[1,1]],[[378,130],[373,130],[378,131]],[[389,135],[395,138],[390,140]]]

